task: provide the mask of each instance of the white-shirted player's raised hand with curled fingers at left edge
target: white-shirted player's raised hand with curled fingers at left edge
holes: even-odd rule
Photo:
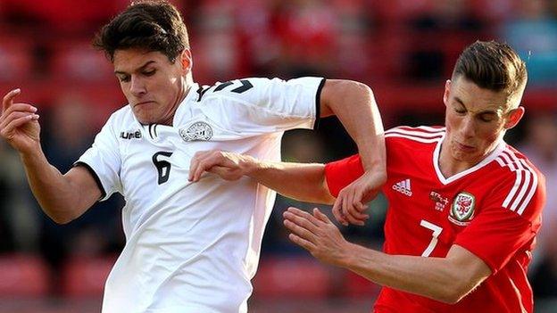
[[[37,108],[28,103],[13,103],[21,94],[14,89],[4,95],[0,115],[0,136],[19,152],[29,152],[40,147],[40,126]]]

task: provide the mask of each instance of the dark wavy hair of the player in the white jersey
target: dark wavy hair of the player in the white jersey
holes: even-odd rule
[[[189,48],[187,29],[180,13],[166,1],[135,1],[104,25],[93,42],[114,62],[118,49],[159,51],[175,62]]]

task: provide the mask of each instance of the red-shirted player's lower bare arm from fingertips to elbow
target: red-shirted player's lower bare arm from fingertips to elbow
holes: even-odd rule
[[[315,258],[403,292],[456,303],[491,275],[482,259],[459,245],[453,245],[445,258],[390,255],[348,243],[318,209],[312,215],[289,208],[284,218],[290,240]]]

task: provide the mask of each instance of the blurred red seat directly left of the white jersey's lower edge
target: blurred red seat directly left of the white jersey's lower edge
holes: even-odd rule
[[[62,292],[73,298],[101,297],[114,258],[73,258],[62,272]]]

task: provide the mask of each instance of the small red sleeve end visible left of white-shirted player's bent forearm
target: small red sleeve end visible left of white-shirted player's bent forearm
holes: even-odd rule
[[[325,165],[325,179],[328,190],[334,197],[347,185],[363,175],[360,154],[354,154],[343,160],[330,162]]]

